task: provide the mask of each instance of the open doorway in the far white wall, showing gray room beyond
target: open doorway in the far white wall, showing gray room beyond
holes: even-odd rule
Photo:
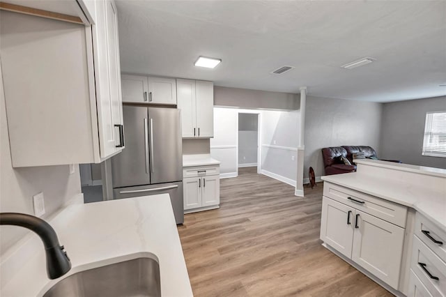
[[[259,116],[260,114],[238,114],[238,168],[257,167],[260,173],[259,152]]]

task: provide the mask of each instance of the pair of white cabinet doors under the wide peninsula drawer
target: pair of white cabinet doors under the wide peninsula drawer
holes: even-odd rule
[[[321,239],[398,289],[405,229],[323,197]]]

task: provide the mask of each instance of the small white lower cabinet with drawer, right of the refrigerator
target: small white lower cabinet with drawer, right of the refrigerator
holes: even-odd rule
[[[188,174],[194,175],[194,177],[183,178],[185,213],[206,211],[219,207],[220,174],[218,174],[218,170],[215,172],[213,169],[215,169],[215,166],[213,168],[193,167],[192,169],[188,168],[183,170],[185,172],[183,176],[187,176]]]

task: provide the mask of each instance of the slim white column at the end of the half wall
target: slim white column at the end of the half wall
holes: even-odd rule
[[[307,87],[300,88],[300,125],[298,146],[298,176],[296,177],[294,195],[304,197],[304,156],[305,156],[305,105],[307,103]]]

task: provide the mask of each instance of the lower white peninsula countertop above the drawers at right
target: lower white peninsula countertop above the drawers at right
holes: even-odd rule
[[[322,176],[322,179],[414,208],[439,227],[446,229],[446,183],[443,188],[432,189],[429,184],[395,182],[358,172]]]

